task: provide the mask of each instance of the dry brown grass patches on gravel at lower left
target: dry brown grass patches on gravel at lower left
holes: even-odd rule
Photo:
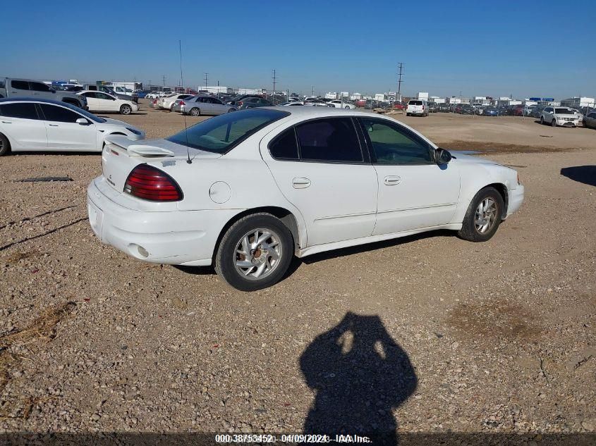
[[[23,357],[20,352],[25,349],[32,349],[44,345],[56,337],[56,325],[67,316],[75,307],[74,302],[65,302],[63,304],[45,309],[29,326],[22,330],[16,330],[0,337],[0,392],[3,392],[11,380],[10,371],[20,366]],[[21,418],[27,419],[31,413],[32,407],[39,402],[44,402],[51,397],[32,398],[27,397],[25,401],[8,402],[4,407],[4,414],[0,418],[6,418],[6,412],[20,404],[23,406]]]

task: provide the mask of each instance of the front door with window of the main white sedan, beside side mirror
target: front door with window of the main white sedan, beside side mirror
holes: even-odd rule
[[[449,223],[459,197],[456,166],[438,165],[430,144],[399,123],[380,118],[360,122],[378,178],[374,235]]]

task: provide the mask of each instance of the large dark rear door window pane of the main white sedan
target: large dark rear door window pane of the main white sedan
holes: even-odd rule
[[[312,120],[296,127],[300,157],[305,161],[363,162],[351,118]]]

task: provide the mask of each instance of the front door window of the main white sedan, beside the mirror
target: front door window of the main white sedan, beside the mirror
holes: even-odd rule
[[[427,142],[413,132],[375,118],[362,118],[361,122],[377,164],[432,163]]]

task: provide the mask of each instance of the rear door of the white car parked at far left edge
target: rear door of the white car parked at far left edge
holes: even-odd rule
[[[33,102],[1,104],[0,126],[15,144],[15,149],[47,149],[46,127]]]

